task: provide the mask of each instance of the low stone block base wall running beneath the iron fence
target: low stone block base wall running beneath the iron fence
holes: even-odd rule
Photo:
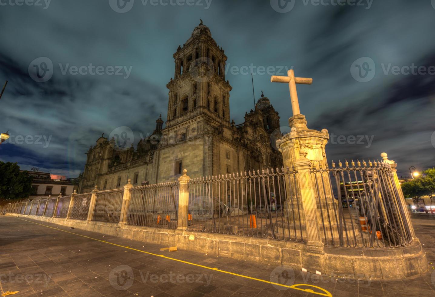
[[[309,272],[319,271],[327,276],[401,279],[424,273],[428,269],[426,255],[419,242],[388,249],[325,247],[324,253],[318,254],[308,252],[305,243],[290,241],[21,214],[8,216],[28,217],[162,246],[177,246],[182,250],[212,256],[276,266],[287,265],[294,270],[305,268]]]

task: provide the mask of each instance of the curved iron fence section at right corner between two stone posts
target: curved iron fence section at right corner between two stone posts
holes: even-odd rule
[[[385,248],[412,243],[391,166],[339,162],[312,171],[326,246]]]

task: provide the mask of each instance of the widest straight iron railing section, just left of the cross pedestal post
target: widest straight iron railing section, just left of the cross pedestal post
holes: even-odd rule
[[[277,168],[191,180],[187,230],[304,241],[296,173]]]

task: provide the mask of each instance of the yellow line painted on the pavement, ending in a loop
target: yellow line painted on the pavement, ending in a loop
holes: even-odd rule
[[[216,267],[212,268],[212,267],[204,266],[204,265],[201,265],[201,264],[196,264],[196,263],[191,263],[191,262],[187,262],[187,261],[171,258],[171,257],[164,256],[164,255],[157,255],[155,253],[146,252],[144,250],[137,250],[137,249],[134,249],[134,248],[129,247],[129,246],[121,246],[119,244],[110,243],[110,242],[107,242],[105,240],[99,240],[97,238],[89,237],[89,236],[86,236],[86,235],[81,235],[81,234],[73,233],[73,232],[70,232],[70,231],[66,231],[66,230],[50,227],[50,226],[47,226],[47,225],[43,225],[43,224],[40,224],[40,223],[35,223],[35,222],[32,222],[32,221],[28,221],[27,219],[21,219],[21,218],[18,218],[18,217],[17,217],[17,219],[20,219],[20,220],[23,220],[23,221],[26,221],[26,222],[29,222],[29,223],[37,224],[37,225],[40,225],[40,226],[48,227],[48,228],[51,228],[51,229],[63,231],[63,232],[66,232],[66,233],[82,236],[82,237],[85,237],[85,238],[89,238],[91,240],[97,240],[97,241],[100,241],[102,243],[108,243],[108,244],[111,244],[111,245],[114,245],[114,246],[123,247],[123,248],[128,249],[128,250],[134,250],[134,251],[137,251],[137,252],[146,253],[148,255],[153,255],[153,256],[157,256],[157,257],[161,257],[161,258],[165,258],[165,259],[169,259],[169,260],[174,260],[174,261],[177,261],[177,262],[181,262],[181,263],[185,263],[185,264],[189,264],[189,265],[193,265],[193,266],[197,266],[197,267],[201,267],[201,268],[205,268],[205,269],[210,269],[210,270],[213,270],[213,271],[219,271],[219,272],[222,272],[222,273],[231,274],[231,275],[234,275],[236,277],[244,277],[244,278],[247,278],[247,279],[250,279],[250,280],[257,280],[257,281],[260,281],[260,282],[263,282],[263,283],[270,283],[272,285],[286,287],[286,288],[289,288],[289,289],[305,291],[305,292],[308,292],[308,293],[317,294],[317,295],[326,296],[326,297],[332,297],[332,294],[330,292],[328,292],[327,290],[325,290],[324,288],[317,287],[317,286],[314,286],[314,285],[309,285],[309,284],[306,284],[306,283],[298,283],[298,284],[294,284],[294,285],[291,285],[291,286],[287,286],[287,285],[283,285],[281,283],[274,283],[274,282],[271,282],[271,281],[268,281],[268,280],[262,280],[260,278],[248,277],[247,275],[238,274],[238,273],[234,273],[234,272],[230,272],[230,271],[225,271],[225,270],[220,270],[220,269],[218,269]],[[313,287],[313,288],[321,290],[323,293],[315,292],[312,289],[302,289],[302,288],[299,288],[300,286]]]

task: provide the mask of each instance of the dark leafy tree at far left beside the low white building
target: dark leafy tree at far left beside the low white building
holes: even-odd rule
[[[0,161],[0,197],[3,199],[27,198],[32,193],[32,177],[20,171],[17,163]]]

